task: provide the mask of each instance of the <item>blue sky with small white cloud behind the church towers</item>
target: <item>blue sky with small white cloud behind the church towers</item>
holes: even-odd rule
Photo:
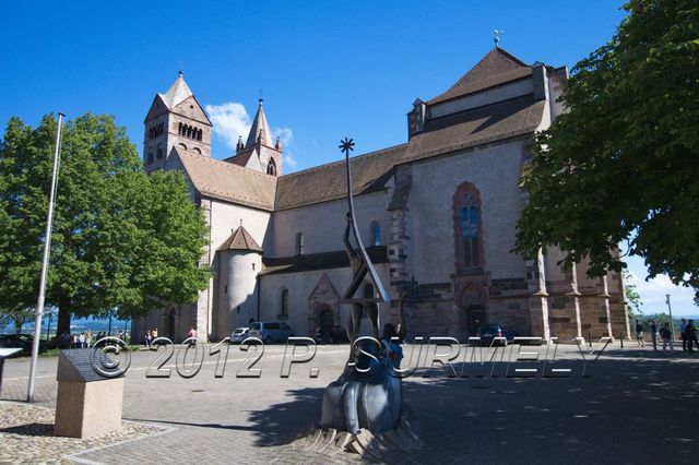
[[[606,43],[624,17],[621,1],[197,1],[15,2],[3,9],[0,122],[35,124],[52,111],[69,118],[110,114],[141,152],[143,119],[156,92],[183,70],[215,115],[214,157],[264,98],[285,142],[284,169],[341,158],[406,140],[416,97],[443,92],[493,47],[528,63],[571,68]],[[223,134],[223,135],[222,135]],[[232,142],[233,141],[233,142]],[[639,261],[635,275],[644,277]],[[638,279],[645,312],[699,313],[689,289]]]

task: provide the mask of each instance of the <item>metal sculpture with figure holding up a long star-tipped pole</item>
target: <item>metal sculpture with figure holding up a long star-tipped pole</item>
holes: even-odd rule
[[[392,324],[384,326],[384,341],[378,337],[378,303],[389,302],[389,296],[379,278],[369,255],[362,242],[357,230],[354,202],[352,198],[352,171],[350,167],[350,152],[354,141],[341,141],[340,148],[345,154],[347,170],[347,202],[350,211],[346,215],[347,227],[344,234],[345,251],[350,258],[353,277],[347,291],[341,302],[351,303],[352,331],[350,333],[351,353],[350,363],[336,381],[330,383],[323,395],[320,430],[312,430],[309,434],[317,444],[322,436],[324,446],[335,443],[344,450],[370,453],[375,436],[393,438],[394,445],[405,450],[416,446],[419,441],[412,432],[410,422],[403,412],[403,396],[401,378],[392,371],[400,363],[390,356],[391,337],[398,336],[402,341],[406,325],[403,312],[405,294],[399,301],[400,325],[398,331]],[[350,242],[350,231],[354,233],[356,249]],[[363,293],[357,297],[357,290],[365,282],[370,282],[375,289],[371,295]],[[357,339],[362,314],[366,310],[371,320],[372,338]],[[337,436],[337,431],[342,434]],[[335,437],[343,438],[335,441]],[[307,437],[308,438],[308,437]],[[311,446],[312,446],[311,444]],[[323,446],[323,449],[324,449]],[[376,451],[375,456],[376,456]]]

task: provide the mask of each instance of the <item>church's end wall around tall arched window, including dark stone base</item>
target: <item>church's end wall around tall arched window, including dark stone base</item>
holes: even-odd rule
[[[531,333],[525,262],[510,252],[522,207],[525,150],[524,140],[513,140],[412,165],[405,210],[410,240],[403,249],[414,296],[408,311],[413,335],[465,338],[488,321]],[[466,182],[481,202],[483,257],[482,266],[463,273],[457,266],[454,194]],[[469,321],[466,308],[483,308],[483,313]]]

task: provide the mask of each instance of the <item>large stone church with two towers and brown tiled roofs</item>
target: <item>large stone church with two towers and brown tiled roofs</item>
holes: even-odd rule
[[[380,325],[398,320],[407,290],[408,337],[465,341],[486,322],[561,339],[629,336],[619,274],[590,279],[584,263],[558,266],[559,252],[511,252],[530,141],[562,111],[567,75],[496,47],[446,92],[413,103],[405,143],[351,159],[363,242],[392,299],[379,306]],[[181,341],[194,325],[216,341],[250,319],[286,322],[299,336],[347,327],[344,160],[284,175],[262,100],[234,156],[213,158],[211,138],[180,73],[145,118],[143,158],[149,171],[185,174],[210,226],[202,261],[213,274],[194,305],[135,320],[132,334],[157,327]]]

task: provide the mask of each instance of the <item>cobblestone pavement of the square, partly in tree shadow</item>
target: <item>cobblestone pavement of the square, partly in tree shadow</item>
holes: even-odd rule
[[[510,378],[503,366],[496,367],[495,378],[478,378],[470,371],[474,363],[466,365],[469,378],[447,378],[441,369],[429,378],[407,378],[404,403],[418,424],[424,448],[412,454],[396,452],[384,462],[697,463],[699,355],[627,344],[625,349],[607,348],[597,361],[588,363],[589,377],[582,377],[574,347],[559,347],[559,367],[572,368],[569,378]],[[324,386],[341,373],[347,350],[347,346],[319,346],[313,361],[294,366],[286,379],[280,377],[283,346],[266,348],[256,366],[262,369],[259,379],[236,378],[247,357],[237,347],[232,347],[223,378],[214,377],[215,356],[206,356],[193,378],[179,377],[173,357],[173,363],[165,366],[173,369],[169,379],[149,379],[145,372],[156,355],[137,353],[127,373],[123,418],[169,431],[68,460],[363,462],[357,454],[329,457],[288,445],[320,418]],[[404,365],[412,366],[410,361],[406,347]],[[36,398],[43,406],[56,403],[56,359],[39,361]],[[311,367],[319,368],[318,378],[309,378]],[[457,365],[459,373],[461,368]],[[8,360],[0,400],[23,401],[27,373],[27,359]],[[2,457],[8,450],[0,426]]]

